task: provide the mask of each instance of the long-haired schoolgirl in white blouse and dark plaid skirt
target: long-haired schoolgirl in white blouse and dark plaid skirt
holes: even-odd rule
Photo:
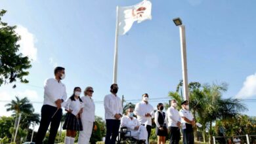
[[[64,107],[68,112],[63,124],[63,130],[66,130],[65,144],[73,144],[77,131],[83,130],[81,123],[81,113],[83,113],[83,101],[80,98],[81,88],[75,87],[74,93],[66,101]]]

